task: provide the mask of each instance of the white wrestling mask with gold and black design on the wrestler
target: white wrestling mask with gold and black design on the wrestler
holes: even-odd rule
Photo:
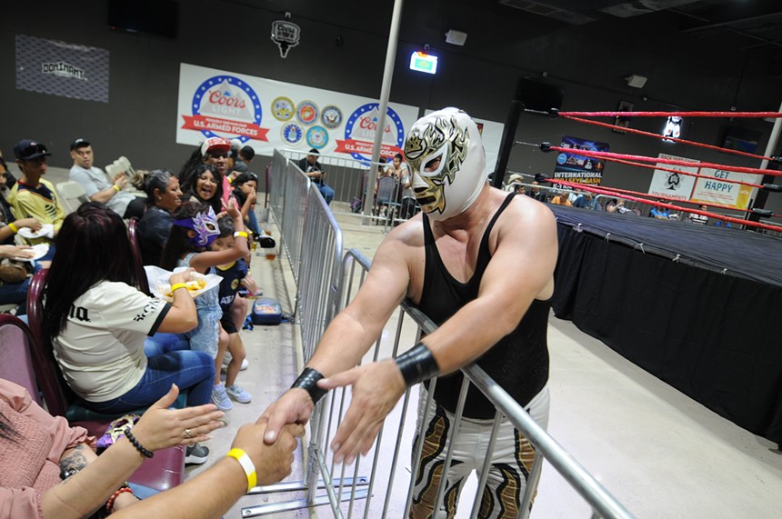
[[[462,214],[486,184],[486,152],[477,125],[458,108],[418,119],[407,134],[405,157],[418,205],[433,220]]]

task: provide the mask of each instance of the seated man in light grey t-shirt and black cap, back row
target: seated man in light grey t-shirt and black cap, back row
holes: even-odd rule
[[[144,215],[145,201],[124,191],[128,181],[126,172],[117,173],[109,183],[104,171],[93,165],[93,148],[89,142],[75,139],[71,143],[71,158],[74,165],[68,176],[84,187],[91,201],[105,204],[123,218]]]

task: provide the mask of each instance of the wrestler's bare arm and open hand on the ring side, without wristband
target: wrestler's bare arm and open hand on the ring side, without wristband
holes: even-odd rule
[[[423,341],[440,374],[476,360],[516,328],[534,299],[546,299],[553,291],[556,223],[545,205],[516,200],[497,220],[492,234],[496,245],[478,297]],[[346,384],[353,385],[353,399],[332,448],[337,462],[350,463],[372,446],[405,384],[396,362],[389,359],[334,375],[318,386],[331,389]]]

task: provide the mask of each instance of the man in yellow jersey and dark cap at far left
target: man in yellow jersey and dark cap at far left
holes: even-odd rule
[[[46,157],[50,154],[46,146],[25,139],[14,146],[16,165],[22,170],[22,176],[8,193],[8,202],[14,209],[17,218],[35,218],[41,224],[51,224],[51,236],[29,238],[26,241],[31,244],[45,243],[49,245],[49,251],[41,258],[41,261],[51,260],[55,254],[52,246],[54,237],[60,232],[60,227],[65,219],[65,212],[55,195],[55,186],[43,175],[46,174]]]

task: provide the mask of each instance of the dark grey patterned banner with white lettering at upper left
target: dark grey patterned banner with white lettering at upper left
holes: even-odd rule
[[[16,88],[108,103],[108,51],[16,35]]]

